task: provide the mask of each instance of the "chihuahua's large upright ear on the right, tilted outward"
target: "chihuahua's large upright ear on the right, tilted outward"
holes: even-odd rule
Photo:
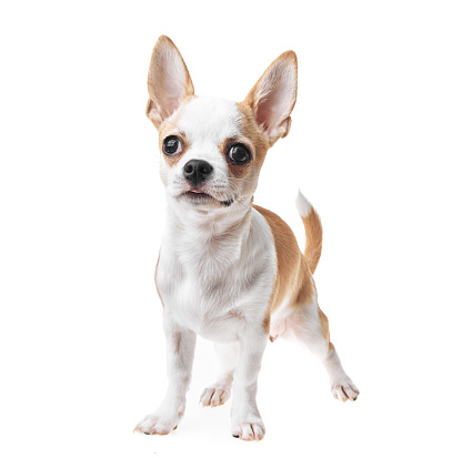
[[[295,101],[297,54],[287,51],[271,63],[243,103],[252,109],[257,123],[273,145],[289,133]]]

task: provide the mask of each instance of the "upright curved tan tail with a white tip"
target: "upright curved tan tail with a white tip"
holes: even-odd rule
[[[322,250],[322,225],[321,220],[307,197],[300,192],[297,196],[297,210],[303,220],[307,244],[304,246],[304,257],[310,267],[311,274],[317,269]]]

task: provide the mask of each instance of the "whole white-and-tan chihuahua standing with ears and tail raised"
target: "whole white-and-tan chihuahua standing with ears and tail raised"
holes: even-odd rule
[[[148,75],[147,115],[159,131],[160,176],[167,190],[167,231],[155,284],[163,305],[169,387],[158,410],[135,430],[165,435],[185,408],[195,338],[215,343],[220,375],[205,388],[203,406],[224,404],[233,390],[231,434],[260,440],[265,428],[257,407],[257,379],[268,340],[292,337],[328,370],[337,399],[359,390],[330,340],[318,306],[313,274],[322,227],[299,193],[307,245],[291,228],[253,204],[268,150],[290,130],[297,99],[297,55],[281,54],[243,102],[194,95],[173,42],[160,37]]]

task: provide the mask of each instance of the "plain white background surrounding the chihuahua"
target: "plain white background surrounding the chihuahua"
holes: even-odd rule
[[[461,456],[462,13],[458,1],[2,2],[3,457]],[[318,208],[315,274],[361,396],[334,400],[305,350],[269,345],[267,437],[230,435],[200,340],[187,415],[133,435],[165,388],[153,276],[164,220],[144,116],[160,34],[195,92],[242,100],[293,49],[292,130],[255,202],[303,246],[293,201]],[[459,436],[459,438],[458,438]]]

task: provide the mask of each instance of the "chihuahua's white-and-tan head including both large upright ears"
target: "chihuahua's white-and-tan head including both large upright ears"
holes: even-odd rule
[[[147,115],[159,131],[160,174],[184,207],[248,205],[267,151],[290,130],[297,99],[297,55],[281,54],[247,98],[234,103],[194,95],[184,61],[160,37],[148,75]]]

